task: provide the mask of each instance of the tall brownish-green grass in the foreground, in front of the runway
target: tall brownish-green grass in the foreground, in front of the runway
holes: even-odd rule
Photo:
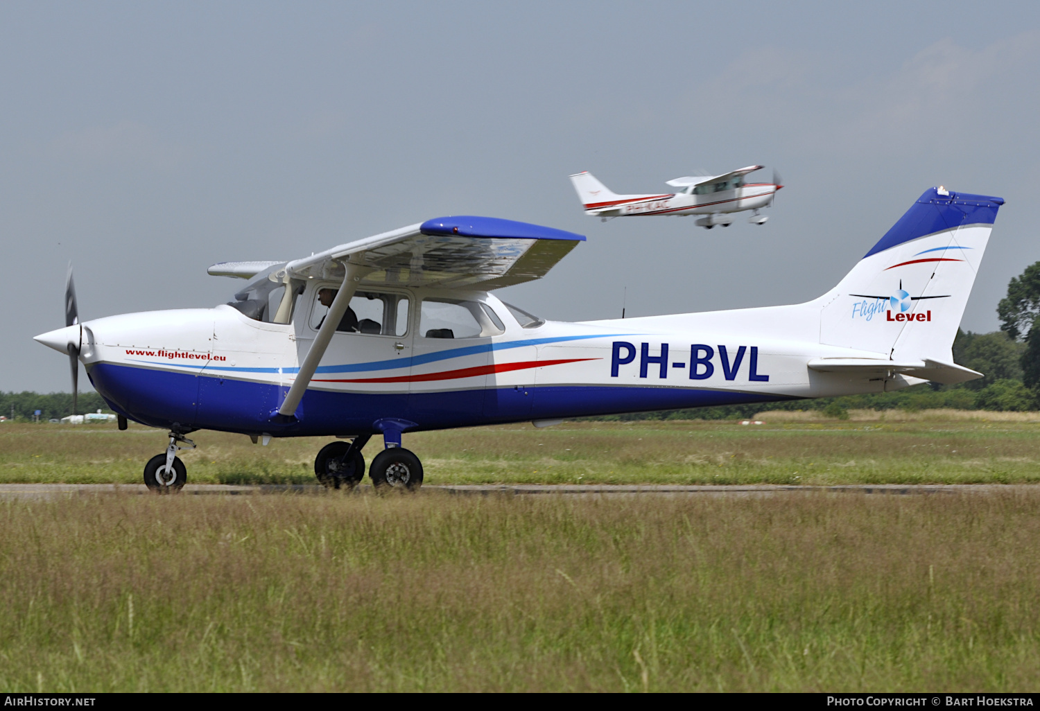
[[[1036,688],[1038,505],[4,501],[0,688]]]

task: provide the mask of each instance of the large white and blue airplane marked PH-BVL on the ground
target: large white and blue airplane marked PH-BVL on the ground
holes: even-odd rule
[[[368,474],[414,489],[405,432],[855,393],[982,377],[952,346],[1004,201],[926,190],[841,282],[805,304],[564,323],[498,299],[544,276],[581,235],[492,217],[441,217],[290,262],[226,262],[252,280],[231,301],[79,322],[35,340],[83,363],[127,420],[167,429],[145,468],[186,481],[177,450],[214,429],[336,437],[329,486]],[[183,445],[183,446],[182,446]]]

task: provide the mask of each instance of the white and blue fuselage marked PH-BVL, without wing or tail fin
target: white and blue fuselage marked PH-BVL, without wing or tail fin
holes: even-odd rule
[[[276,437],[371,432],[386,418],[421,430],[886,387],[807,368],[879,354],[818,343],[818,311],[805,305],[566,323],[528,319],[490,292],[446,299],[388,286],[352,301],[359,317],[372,307],[367,333],[335,334],[295,421],[272,418],[320,325],[317,292],[337,286],[309,282],[288,323],[233,306],[87,321],[80,360],[132,420]]]

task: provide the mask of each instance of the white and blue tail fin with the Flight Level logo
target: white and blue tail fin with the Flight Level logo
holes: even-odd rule
[[[815,301],[820,342],[896,362],[952,364],[954,338],[1003,204],[942,187],[926,190]]]

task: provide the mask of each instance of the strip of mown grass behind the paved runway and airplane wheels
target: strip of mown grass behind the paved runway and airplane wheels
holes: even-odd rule
[[[1036,413],[763,413],[734,422],[574,422],[419,432],[427,483],[1028,483],[1040,481]],[[794,418],[794,419],[792,419]],[[884,418],[884,419],[882,419]],[[332,439],[201,431],[182,452],[196,483],[313,483]],[[367,460],[382,443],[365,449]],[[160,430],[0,425],[0,482],[139,483]]]

